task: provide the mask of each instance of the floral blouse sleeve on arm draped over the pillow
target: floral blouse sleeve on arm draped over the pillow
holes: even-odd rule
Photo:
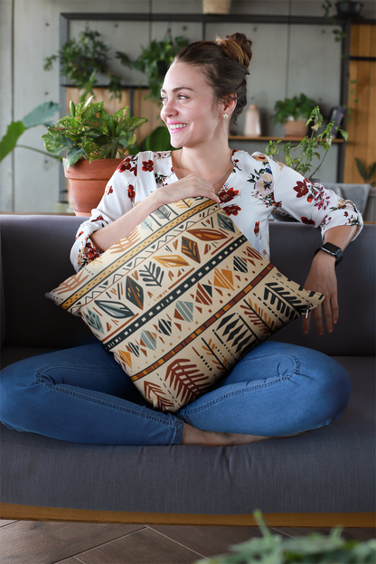
[[[88,221],[81,223],[71,248],[71,264],[78,272],[101,252],[90,239],[92,233],[102,229],[135,204],[137,155],[127,156],[109,179],[98,208],[91,210]]]

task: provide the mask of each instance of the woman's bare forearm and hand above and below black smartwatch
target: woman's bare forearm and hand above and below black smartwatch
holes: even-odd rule
[[[340,249],[346,249],[357,231],[354,225],[341,225],[325,232],[324,242],[333,243]],[[328,333],[332,333],[338,321],[337,277],[335,274],[335,257],[320,250],[312,261],[308,277],[305,280],[306,290],[320,292],[325,299],[322,305],[315,308],[315,324],[317,333],[324,334],[324,320]],[[324,308],[324,319],[323,319]],[[311,314],[303,319],[303,332],[308,333]]]

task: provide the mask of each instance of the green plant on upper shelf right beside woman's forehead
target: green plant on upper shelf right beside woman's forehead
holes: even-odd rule
[[[150,89],[147,98],[152,100],[161,98],[164,75],[174,61],[176,53],[187,45],[188,41],[182,36],[173,39],[168,31],[167,38],[164,41],[153,40],[147,47],[142,47],[142,52],[133,63],[133,67],[138,71],[146,72],[147,87]]]

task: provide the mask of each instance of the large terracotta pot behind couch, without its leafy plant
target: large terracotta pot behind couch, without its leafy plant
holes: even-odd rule
[[[70,166],[69,171],[64,166],[65,177],[70,181],[76,215],[91,215],[91,210],[98,206],[103,196],[108,180],[123,160],[99,159],[90,164],[87,159],[80,159]]]

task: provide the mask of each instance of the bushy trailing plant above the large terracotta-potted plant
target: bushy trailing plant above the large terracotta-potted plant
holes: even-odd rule
[[[58,54],[44,59],[44,71],[51,71],[53,63],[60,59],[61,75],[71,84],[83,89],[80,101],[84,101],[97,81],[97,73],[105,74],[109,78],[108,90],[111,98],[121,99],[121,76],[109,68],[109,47],[100,39],[100,33],[86,30],[80,32],[79,40],[71,39],[64,43]],[[115,58],[122,65],[132,67],[132,62],[126,53],[116,52]]]

